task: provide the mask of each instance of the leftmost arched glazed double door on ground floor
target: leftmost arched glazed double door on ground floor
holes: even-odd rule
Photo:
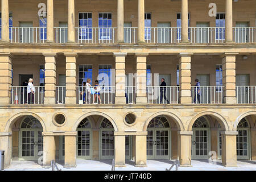
[[[38,160],[43,155],[42,131],[41,123],[32,116],[20,122],[19,160]]]

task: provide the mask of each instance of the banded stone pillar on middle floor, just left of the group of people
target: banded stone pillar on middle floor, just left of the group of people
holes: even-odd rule
[[[76,104],[76,53],[66,56],[66,97],[65,104]]]

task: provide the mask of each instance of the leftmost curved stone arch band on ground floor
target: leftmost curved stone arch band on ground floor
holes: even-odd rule
[[[38,119],[38,121],[41,123],[41,125],[43,127],[43,131],[46,131],[46,125],[44,125],[43,119],[41,117],[39,117],[38,114],[32,113],[30,111],[24,111],[22,113],[15,114],[15,115],[13,115],[13,117],[8,119],[6,126],[5,126],[5,132],[11,131],[11,129],[12,129],[14,123],[17,121],[17,119],[24,117],[26,115],[30,115],[30,116]]]

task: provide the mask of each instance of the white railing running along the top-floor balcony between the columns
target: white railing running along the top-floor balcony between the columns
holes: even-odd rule
[[[124,42],[137,43],[136,27],[124,28]],[[54,43],[68,42],[68,28],[55,27]],[[77,44],[113,44],[117,43],[117,28],[75,28]],[[189,42],[192,44],[225,43],[224,27],[189,27]],[[181,28],[145,28],[145,42],[151,44],[177,44],[181,42]],[[233,27],[234,43],[256,43],[256,27]],[[47,30],[42,27],[10,27],[11,43],[46,43]]]

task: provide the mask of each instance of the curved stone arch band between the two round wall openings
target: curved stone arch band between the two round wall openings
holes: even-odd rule
[[[117,125],[115,125],[114,119],[112,119],[112,117],[110,117],[109,115],[102,113],[100,111],[89,111],[88,113],[81,115],[81,117],[79,119],[77,119],[75,125],[73,126],[72,131],[76,131],[77,127],[79,126],[79,123],[84,118],[88,118],[88,117],[90,118],[90,116],[92,116],[92,115],[100,115],[101,117],[109,119],[109,121],[112,123],[112,125],[114,127],[114,131],[118,131],[118,127],[117,127]],[[96,125],[95,122],[92,122],[91,119],[89,121],[91,122],[92,127],[97,127],[97,126],[95,126]]]

